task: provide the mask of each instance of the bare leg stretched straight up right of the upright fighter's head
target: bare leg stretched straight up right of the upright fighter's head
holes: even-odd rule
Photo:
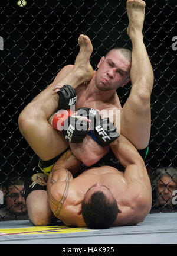
[[[145,1],[128,0],[127,15],[129,26],[127,34],[132,41],[132,64],[130,78],[132,89],[122,108],[121,133],[137,149],[148,146],[150,139],[150,95],[153,87],[153,70],[143,43],[143,23],[145,18]]]

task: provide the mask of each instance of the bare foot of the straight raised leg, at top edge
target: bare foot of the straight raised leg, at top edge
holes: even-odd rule
[[[145,20],[145,1],[142,0],[128,0],[127,1],[127,15],[129,17],[129,26],[127,27],[127,34],[132,37],[135,32],[142,33],[143,23]]]

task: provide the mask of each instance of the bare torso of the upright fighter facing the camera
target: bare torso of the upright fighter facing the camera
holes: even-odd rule
[[[90,84],[82,84],[76,88],[76,110],[83,107],[94,108],[100,111],[102,118],[109,117],[109,120],[112,121],[112,123],[115,123],[114,125],[116,125],[116,122],[119,122],[116,127],[120,126],[120,110],[122,107],[117,93],[115,92],[110,101],[105,103],[101,100],[101,97],[98,97],[98,95],[90,95],[90,88]],[[117,127],[117,129],[119,130],[119,127]],[[91,166],[98,162],[110,149],[109,146],[100,146],[89,135],[86,135],[83,143],[70,143],[70,148],[76,158],[80,159],[87,166]]]

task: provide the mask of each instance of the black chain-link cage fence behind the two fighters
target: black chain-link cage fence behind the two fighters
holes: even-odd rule
[[[132,44],[126,33],[126,0],[7,0],[1,1],[0,5],[0,187],[4,192],[4,204],[1,204],[1,208],[6,207],[5,215],[0,211],[0,220],[5,220],[5,216],[11,212],[11,207],[7,205],[8,199],[14,200],[14,206],[19,196],[22,196],[21,187],[18,187],[20,185],[16,184],[14,177],[20,180],[26,175],[31,158],[35,155],[19,133],[19,113],[35,95],[53,81],[63,66],[74,63],[80,34],[87,34],[93,43],[91,65],[94,69],[100,57],[111,48],[131,49]],[[151,100],[152,133],[146,158],[151,179],[160,167],[173,167],[175,173],[177,172],[176,21],[176,0],[146,2],[144,41],[155,73]],[[130,84],[117,90],[122,105],[129,92]],[[158,198],[165,200],[163,204],[156,203],[160,177],[162,180],[161,174],[155,184],[152,182],[152,210],[164,212],[168,208],[173,212],[177,200],[174,197],[171,207],[166,207],[169,202],[163,192],[171,191],[172,181],[176,184],[175,175],[169,174],[168,183],[160,181],[164,187]],[[9,181],[10,189],[7,185]],[[12,188],[17,188],[16,197],[11,195]],[[170,197],[172,199],[172,193]],[[21,204],[21,212],[27,216],[24,207]],[[19,219],[18,217],[14,214],[15,219]]]

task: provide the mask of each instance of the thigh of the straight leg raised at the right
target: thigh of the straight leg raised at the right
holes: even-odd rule
[[[151,111],[150,97],[131,95],[121,110],[120,132],[137,149],[146,148],[150,139]]]

